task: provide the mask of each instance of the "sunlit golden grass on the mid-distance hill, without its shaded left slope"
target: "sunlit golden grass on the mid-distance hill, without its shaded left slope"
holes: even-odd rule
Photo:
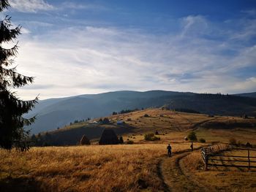
[[[148,114],[149,117],[144,117],[145,114]],[[195,131],[197,133],[197,139],[204,138],[206,139],[206,142],[227,143],[229,142],[230,138],[235,138],[237,141],[240,141],[243,144],[250,142],[251,144],[256,145],[256,130],[252,128],[252,125],[256,125],[256,120],[252,118],[243,119],[229,116],[215,116],[214,118],[211,118],[208,117],[208,115],[203,114],[173,112],[162,109],[146,109],[127,114],[111,115],[108,118],[112,124],[89,125],[88,122],[83,122],[72,124],[72,126],[61,128],[55,132],[85,126],[95,128],[97,126],[102,126],[104,128],[113,128],[115,131],[118,131],[118,128],[121,128],[124,131],[122,134],[124,137],[124,142],[129,139],[135,143],[141,144],[150,143],[144,141],[144,134],[146,133],[155,133],[155,131],[159,132],[159,137],[161,139],[154,143],[183,142],[184,137],[187,137],[189,131],[196,129]],[[124,120],[125,125],[116,125],[117,120]],[[250,127],[247,128],[246,126],[242,126],[243,123],[250,125]],[[214,128],[207,128],[207,126],[206,128],[202,127],[207,124],[210,125],[209,127],[214,125],[220,126]],[[233,127],[231,126],[231,128],[225,128],[221,126],[222,124],[227,126],[233,125]],[[129,129],[129,127],[132,127],[132,129]],[[94,138],[93,142],[97,142],[98,139],[99,138]]]

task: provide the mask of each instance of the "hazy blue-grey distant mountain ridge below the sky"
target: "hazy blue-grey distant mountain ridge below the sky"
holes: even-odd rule
[[[74,120],[108,116],[114,111],[162,106],[218,115],[256,114],[256,99],[245,96],[174,91],[116,91],[42,100],[26,117],[37,115],[37,120],[29,127],[32,134],[37,134],[65,126]]]

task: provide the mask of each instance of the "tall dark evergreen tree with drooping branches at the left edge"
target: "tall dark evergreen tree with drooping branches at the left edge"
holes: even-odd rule
[[[7,0],[0,1],[0,12],[10,7]],[[23,118],[23,114],[29,112],[37,98],[31,101],[23,101],[12,89],[22,87],[33,82],[33,77],[26,77],[16,72],[13,66],[13,58],[18,53],[18,45],[5,48],[4,43],[14,42],[20,34],[20,26],[13,27],[11,18],[6,16],[0,21],[0,147],[10,150],[17,147],[18,150],[29,149],[27,139],[29,131],[23,127],[29,126],[35,118]]]

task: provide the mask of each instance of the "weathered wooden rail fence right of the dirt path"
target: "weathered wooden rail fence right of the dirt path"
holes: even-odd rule
[[[256,156],[250,155],[251,151],[256,151],[256,149],[252,148],[228,148],[226,150],[228,151],[233,151],[233,150],[246,150],[247,155],[225,155],[221,154],[222,151],[225,149],[221,150],[213,150],[212,147],[203,147],[201,150],[201,155],[203,158],[203,162],[205,164],[205,170],[208,169],[208,166],[231,166],[231,167],[246,167],[248,169],[250,168],[256,168],[255,164],[256,163]],[[218,159],[220,157],[221,159]],[[229,159],[225,159],[229,158]],[[230,159],[230,158],[239,158],[239,159]],[[241,158],[241,159],[240,159]],[[211,161],[211,163],[209,163]],[[222,163],[225,161],[227,163],[232,163],[232,164],[216,164],[215,162],[222,161]],[[241,165],[239,163],[247,163],[248,165]],[[238,164],[234,164],[238,163]]]

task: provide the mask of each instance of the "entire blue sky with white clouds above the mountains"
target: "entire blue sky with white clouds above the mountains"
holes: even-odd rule
[[[256,0],[10,4],[0,17],[10,15],[22,26],[15,65],[35,77],[16,90],[22,99],[122,90],[256,91]]]

